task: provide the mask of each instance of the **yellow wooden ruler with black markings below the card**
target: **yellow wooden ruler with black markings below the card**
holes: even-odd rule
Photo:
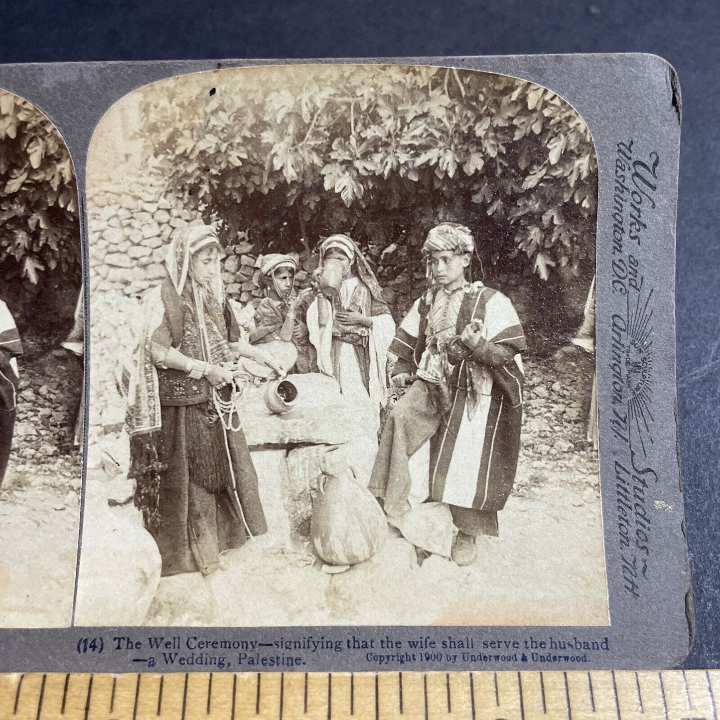
[[[1,720],[718,720],[720,670],[0,675]]]

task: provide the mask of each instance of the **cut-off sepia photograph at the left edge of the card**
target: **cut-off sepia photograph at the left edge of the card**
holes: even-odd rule
[[[80,521],[83,313],[68,148],[0,89],[0,627],[71,623]]]

